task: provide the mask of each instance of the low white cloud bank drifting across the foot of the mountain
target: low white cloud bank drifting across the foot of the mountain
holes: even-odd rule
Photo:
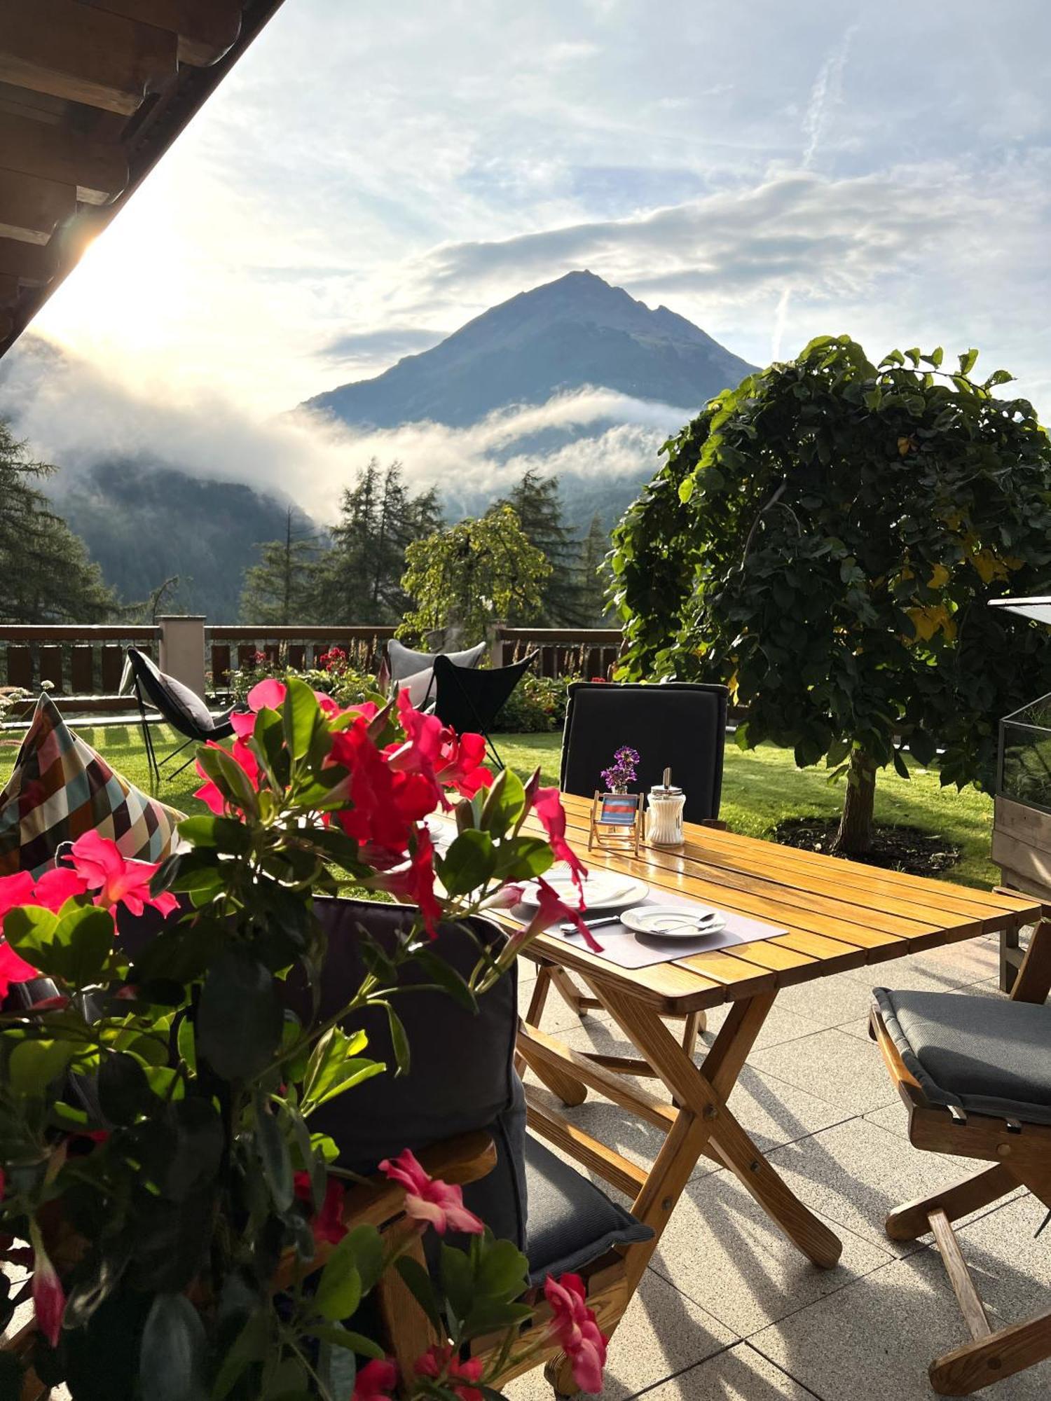
[[[0,415],[34,454],[70,478],[102,460],[170,465],[195,476],[247,482],[334,518],[339,492],[376,457],[398,460],[416,488],[437,486],[450,516],[479,509],[527,468],[611,481],[656,469],[656,454],[691,410],[586,388],[518,405],[471,427],[405,423],[355,430],[297,410],[255,417],[220,395],[179,399],[163,385],[126,385],[39,338],[4,361]]]

